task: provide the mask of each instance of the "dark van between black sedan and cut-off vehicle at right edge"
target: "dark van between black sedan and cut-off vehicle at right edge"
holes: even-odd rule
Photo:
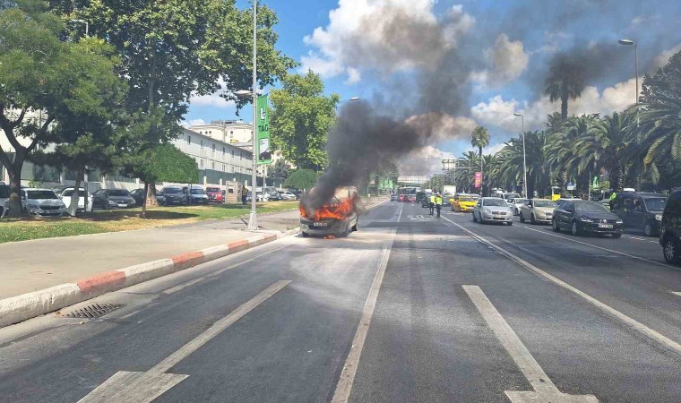
[[[642,229],[646,236],[659,236],[667,199],[659,193],[618,193],[612,212],[625,221],[625,229]]]

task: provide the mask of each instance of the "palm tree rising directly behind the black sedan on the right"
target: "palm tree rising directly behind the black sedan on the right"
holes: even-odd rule
[[[625,152],[631,143],[633,133],[629,130],[630,116],[625,113],[613,113],[602,119],[593,119],[586,133],[574,142],[574,151],[581,155],[577,168],[580,173],[588,172],[596,167],[608,171],[610,186],[621,187],[623,177],[623,161]],[[592,171],[591,171],[592,172]]]

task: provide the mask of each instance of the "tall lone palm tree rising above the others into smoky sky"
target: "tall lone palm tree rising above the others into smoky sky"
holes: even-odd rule
[[[555,59],[549,68],[545,93],[551,102],[560,99],[560,116],[563,121],[567,119],[568,100],[580,98],[582,90],[584,90],[582,65],[566,57]]]

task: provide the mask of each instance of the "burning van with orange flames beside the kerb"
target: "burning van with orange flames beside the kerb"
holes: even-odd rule
[[[315,193],[315,188],[310,194]],[[336,189],[332,200],[319,209],[306,207],[306,198],[300,201],[300,231],[303,236],[333,235],[349,236],[358,230],[358,193],[357,188],[342,186]]]

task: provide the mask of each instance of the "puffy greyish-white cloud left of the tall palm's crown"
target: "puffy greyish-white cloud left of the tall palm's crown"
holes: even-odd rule
[[[522,41],[512,41],[504,33],[496,38],[493,47],[485,50],[485,58],[490,68],[471,74],[471,79],[477,81],[482,89],[496,88],[514,81],[525,71],[530,61]]]

